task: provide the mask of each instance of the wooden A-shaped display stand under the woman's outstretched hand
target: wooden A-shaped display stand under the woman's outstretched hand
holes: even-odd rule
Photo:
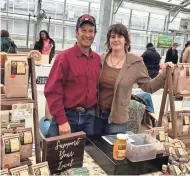
[[[183,136],[177,135],[177,126],[176,126],[177,117],[176,117],[176,112],[175,112],[175,104],[174,104],[172,84],[173,84],[173,82],[172,82],[172,71],[171,71],[171,68],[168,67],[157,126],[158,127],[162,126],[162,118],[164,116],[165,107],[166,107],[166,98],[167,98],[167,95],[169,95],[171,122],[172,122],[172,132],[169,133],[169,136],[172,138],[178,138],[179,140],[182,140],[186,144],[186,147],[190,148],[190,135],[189,134],[183,135]]]

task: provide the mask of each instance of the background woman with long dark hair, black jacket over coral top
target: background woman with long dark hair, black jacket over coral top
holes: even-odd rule
[[[49,55],[49,64],[51,63],[55,55],[55,42],[50,38],[47,31],[40,31],[39,41],[35,43],[34,50],[38,50],[41,54]]]

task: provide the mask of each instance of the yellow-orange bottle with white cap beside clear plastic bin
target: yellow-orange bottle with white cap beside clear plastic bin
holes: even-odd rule
[[[126,156],[127,137],[125,134],[117,134],[117,139],[113,146],[113,158],[115,160],[124,160]]]

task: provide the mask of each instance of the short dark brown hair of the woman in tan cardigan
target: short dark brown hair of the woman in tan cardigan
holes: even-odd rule
[[[110,47],[110,37],[111,34],[118,34],[118,35],[122,35],[125,38],[125,51],[130,51],[131,50],[131,40],[130,40],[130,36],[129,33],[127,31],[127,28],[123,25],[123,24],[113,24],[109,27],[108,32],[107,32],[107,48],[108,50],[111,52],[111,47]]]

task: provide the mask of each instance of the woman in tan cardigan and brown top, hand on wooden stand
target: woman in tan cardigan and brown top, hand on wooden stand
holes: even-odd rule
[[[141,57],[128,51],[130,38],[122,24],[111,25],[107,32],[108,52],[101,55],[99,80],[100,116],[95,120],[95,133],[116,134],[127,131],[129,103],[133,85],[153,93],[163,87],[166,70],[151,79]],[[173,66],[166,63],[165,66]]]

